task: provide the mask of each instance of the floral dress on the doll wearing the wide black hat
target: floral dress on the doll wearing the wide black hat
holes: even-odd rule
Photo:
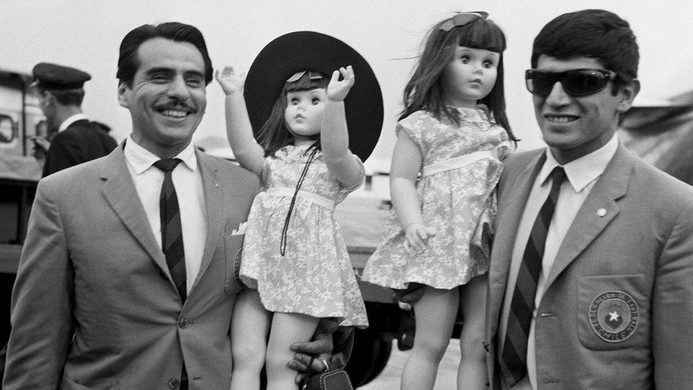
[[[286,146],[266,158],[265,190],[256,196],[248,217],[240,278],[258,290],[263,306],[272,312],[336,317],[341,325],[365,327],[364,300],[333,215],[334,205],[362,180],[344,188],[330,175],[320,151],[296,197],[284,256],[280,253],[286,215],[309,154],[307,146]],[[361,178],[363,169],[361,165]]]

